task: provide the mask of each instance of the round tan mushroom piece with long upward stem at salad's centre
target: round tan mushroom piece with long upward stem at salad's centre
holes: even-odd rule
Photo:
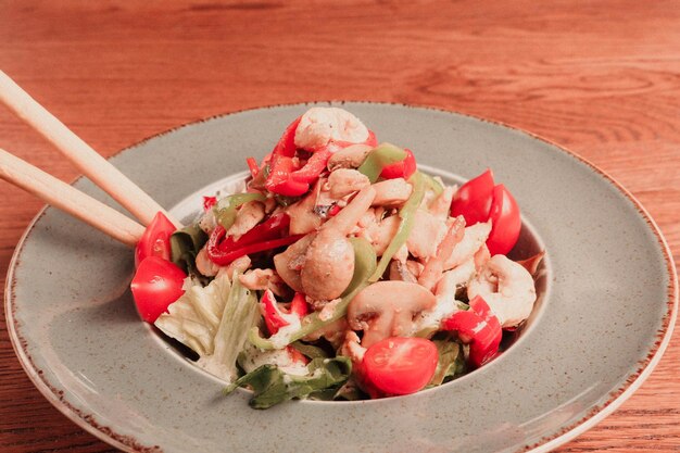
[[[322,226],[310,244],[300,281],[303,292],[311,299],[336,299],[350,285],[354,274],[354,249],[347,235],[370,207],[375,194],[370,186],[362,189],[338,215]]]

